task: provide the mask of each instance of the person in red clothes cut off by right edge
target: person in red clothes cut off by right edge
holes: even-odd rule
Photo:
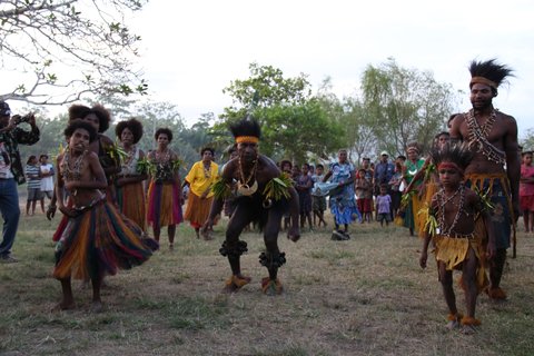
[[[534,233],[534,166],[532,166],[532,151],[525,151],[522,156],[520,205],[523,211],[525,233]]]

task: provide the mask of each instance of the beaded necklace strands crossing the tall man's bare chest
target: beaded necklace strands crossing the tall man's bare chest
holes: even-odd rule
[[[497,118],[496,110],[493,110],[484,125],[479,125],[475,118],[475,110],[471,109],[467,112],[467,127],[469,129],[469,148],[482,152],[488,161],[504,166],[506,164],[505,154],[493,146],[487,136],[492,131],[493,125]]]

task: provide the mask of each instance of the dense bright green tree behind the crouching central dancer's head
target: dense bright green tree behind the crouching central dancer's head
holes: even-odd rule
[[[326,157],[333,147],[339,147],[343,130],[322,102],[312,97],[305,75],[286,78],[271,66],[251,63],[249,68],[249,78],[234,80],[224,90],[233,97],[234,106],[225,108],[222,122],[212,129],[219,140],[228,144],[228,122],[248,112],[261,125],[261,150],[274,159],[303,162],[308,155]]]

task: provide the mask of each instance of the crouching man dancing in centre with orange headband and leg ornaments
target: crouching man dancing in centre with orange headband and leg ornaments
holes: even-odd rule
[[[259,261],[267,267],[269,276],[261,280],[261,289],[266,294],[280,294],[281,284],[277,278],[278,268],[285,264],[285,254],[278,249],[278,233],[284,212],[289,209],[291,227],[287,237],[297,241],[298,196],[291,182],[281,175],[275,162],[258,152],[260,128],[258,122],[244,119],[230,126],[237,144],[238,157],[230,160],[222,171],[221,178],[214,185],[216,199],[211,206],[204,230],[209,230],[216,216],[220,214],[226,196],[231,195],[235,187],[235,205],[226,230],[226,240],[220,254],[228,257],[233,276],[226,283],[226,291],[237,291],[250,283],[249,277],[241,275],[240,255],[247,251],[247,244],[239,240],[243,229],[251,221],[259,222],[264,231],[266,253]],[[233,180],[237,181],[233,185]]]

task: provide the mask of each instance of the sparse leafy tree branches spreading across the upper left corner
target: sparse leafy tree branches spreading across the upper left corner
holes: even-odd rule
[[[73,102],[86,92],[145,93],[134,66],[140,37],[123,19],[146,0],[2,0],[0,68],[17,73],[0,99]],[[24,75],[26,73],[26,75]],[[3,86],[6,86],[4,75]]]

